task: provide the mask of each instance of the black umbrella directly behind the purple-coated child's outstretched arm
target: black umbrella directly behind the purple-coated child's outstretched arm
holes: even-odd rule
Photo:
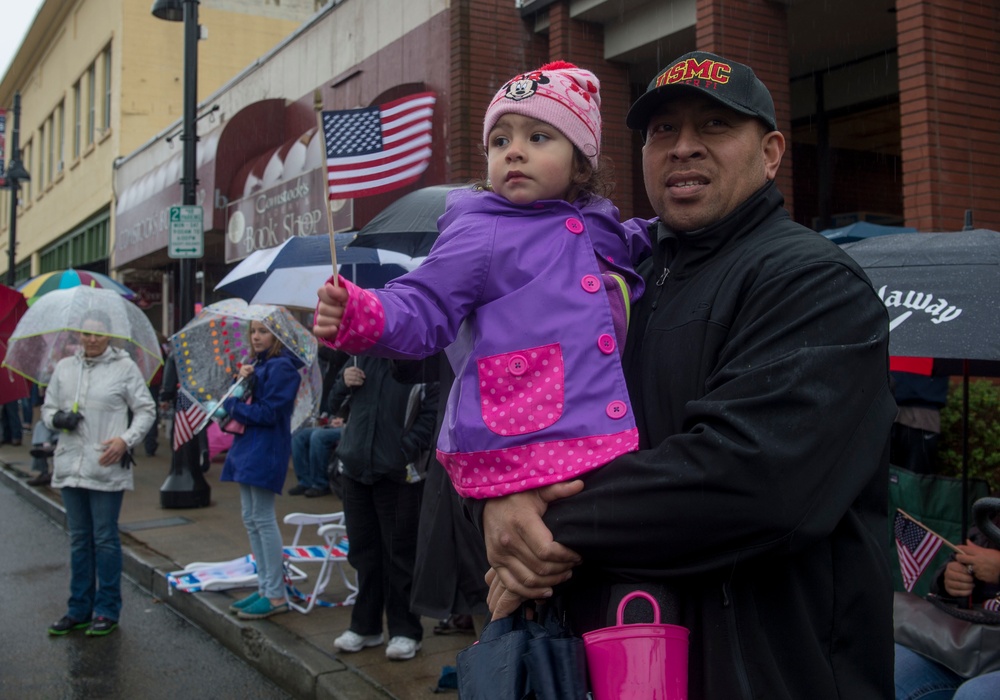
[[[400,197],[365,224],[349,247],[395,250],[411,258],[427,255],[437,240],[445,197],[457,187],[467,185],[432,185]]]

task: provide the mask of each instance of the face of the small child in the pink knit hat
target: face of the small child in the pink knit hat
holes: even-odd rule
[[[487,150],[493,191],[515,204],[566,199],[573,185],[573,144],[547,122],[505,114]]]

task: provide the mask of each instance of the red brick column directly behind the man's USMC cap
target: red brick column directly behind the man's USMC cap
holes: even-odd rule
[[[792,123],[788,67],[788,18],[772,0],[697,0],[695,44],[753,68],[774,98],[778,130],[785,135],[785,156],[778,188],[792,211]]]

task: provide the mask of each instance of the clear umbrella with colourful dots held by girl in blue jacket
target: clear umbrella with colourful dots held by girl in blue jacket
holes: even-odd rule
[[[316,338],[282,306],[226,299],[202,309],[170,338],[181,391],[211,413],[210,409],[232,390],[239,368],[255,359],[250,346],[251,321],[264,324],[303,363],[292,412],[295,430],[316,413],[323,382]]]

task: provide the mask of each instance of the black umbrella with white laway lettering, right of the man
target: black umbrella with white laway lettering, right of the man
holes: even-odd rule
[[[987,361],[982,366],[995,368],[1000,360],[1000,233],[902,233],[841,247],[864,268],[889,311],[891,354],[961,361],[967,489],[970,367]],[[967,490],[962,505],[965,533]]]

